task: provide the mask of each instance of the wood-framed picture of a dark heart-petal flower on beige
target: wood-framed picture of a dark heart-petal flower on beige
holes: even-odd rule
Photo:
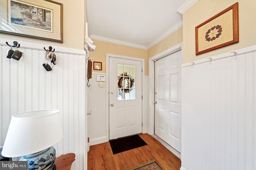
[[[196,55],[238,42],[238,2],[196,26]]]

